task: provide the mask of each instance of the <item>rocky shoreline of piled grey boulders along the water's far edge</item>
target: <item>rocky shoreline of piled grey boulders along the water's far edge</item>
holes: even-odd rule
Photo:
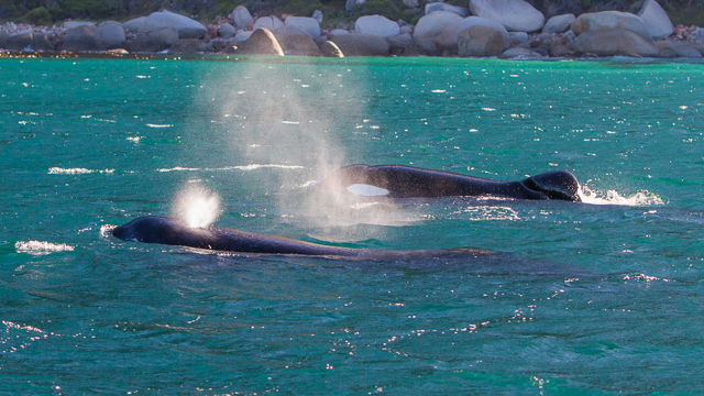
[[[349,0],[353,7],[363,0]],[[410,1],[410,0],[409,0]],[[410,6],[409,6],[410,7]],[[365,15],[326,25],[323,14],[254,19],[243,6],[212,24],[169,11],[124,23],[63,26],[6,23],[0,51],[107,54],[262,54],[298,56],[460,56],[501,58],[701,58],[704,29],[673,26],[656,0],[635,13],[602,11],[548,20],[524,0],[428,3],[415,25]]]

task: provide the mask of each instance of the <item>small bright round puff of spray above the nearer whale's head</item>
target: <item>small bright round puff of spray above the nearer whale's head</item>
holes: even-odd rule
[[[187,184],[176,195],[172,213],[188,227],[204,228],[212,224],[222,210],[220,196],[199,183]]]

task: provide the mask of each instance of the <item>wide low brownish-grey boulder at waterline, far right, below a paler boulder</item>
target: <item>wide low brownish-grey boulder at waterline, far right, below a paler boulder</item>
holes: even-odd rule
[[[578,19],[579,20],[579,19]],[[602,29],[580,34],[568,48],[597,56],[658,57],[660,51],[650,41],[627,29]]]

